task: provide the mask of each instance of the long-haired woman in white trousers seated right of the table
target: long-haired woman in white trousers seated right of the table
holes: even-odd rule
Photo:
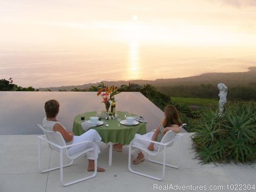
[[[175,133],[179,133],[180,132],[179,126],[182,125],[182,123],[180,121],[180,116],[178,114],[176,107],[174,107],[172,105],[166,106],[164,108],[164,116],[165,117],[162,119],[161,123],[156,128],[155,132],[149,132],[144,135],[140,135],[140,134],[136,133],[134,136],[134,139],[142,138],[142,139],[161,142],[162,138],[164,137],[164,134],[167,131],[172,130]],[[150,141],[143,141],[143,140],[135,140],[135,141],[133,141],[133,143],[135,145],[148,147],[148,150],[154,150],[154,148],[157,149],[159,146],[156,143],[153,143]],[[114,149],[122,151],[122,145],[117,143],[114,145]],[[140,151],[140,153],[138,154],[138,157],[136,159],[134,159],[132,163],[139,164],[140,162],[142,162],[144,160],[145,160],[144,155],[143,155],[142,151]]]

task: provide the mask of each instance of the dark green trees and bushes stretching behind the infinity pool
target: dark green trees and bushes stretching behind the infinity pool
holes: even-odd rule
[[[98,91],[98,86],[91,86],[87,89],[74,88],[71,91]],[[0,80],[0,91],[38,91],[32,86],[21,87],[13,84],[12,78],[9,80]],[[46,89],[45,91],[51,91]],[[67,90],[59,90],[67,91]],[[121,85],[118,91],[129,92],[138,91],[153,103],[169,102],[170,97],[183,97],[183,98],[206,98],[206,99],[219,99],[219,90],[217,85],[201,84],[201,85],[177,85],[177,86],[156,86],[146,84],[139,85],[136,83],[129,83],[129,85]],[[247,86],[228,86],[227,99],[230,101],[243,100],[255,101],[256,100],[256,83],[249,83]],[[162,105],[162,104],[161,104]]]

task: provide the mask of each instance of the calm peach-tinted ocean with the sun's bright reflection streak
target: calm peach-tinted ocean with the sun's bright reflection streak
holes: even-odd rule
[[[180,78],[244,72],[255,66],[244,47],[106,44],[81,49],[15,49],[0,52],[0,78],[22,87],[57,87],[101,81]]]

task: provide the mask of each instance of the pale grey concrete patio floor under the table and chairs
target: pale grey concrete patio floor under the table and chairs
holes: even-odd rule
[[[0,191],[233,191],[244,185],[243,191],[255,185],[255,164],[198,164],[194,159],[195,152],[191,149],[190,136],[183,137],[182,164],[179,169],[166,167],[165,178],[156,181],[128,170],[128,148],[124,147],[122,153],[113,151],[112,166],[108,166],[108,149],[104,143],[100,144],[101,153],[98,166],[104,167],[105,172],[98,172],[89,180],[63,187],[60,183],[59,170],[41,173],[38,169],[38,135],[0,135]],[[167,159],[177,162],[179,142],[168,148]],[[43,145],[43,167],[54,166],[59,163],[59,154]],[[161,175],[162,166],[145,161],[132,166],[145,173]],[[64,180],[76,179],[86,171],[87,158],[79,157],[74,165],[64,169]],[[246,185],[246,186],[245,186]],[[228,189],[229,187],[229,189]],[[254,186],[255,187],[255,186]],[[179,189],[181,188],[181,189]],[[185,190],[183,190],[183,189]],[[202,190],[201,190],[202,189]],[[209,189],[209,190],[204,190]],[[233,190],[232,190],[233,189]]]

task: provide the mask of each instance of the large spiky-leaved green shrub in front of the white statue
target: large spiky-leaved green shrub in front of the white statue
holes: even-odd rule
[[[196,158],[201,163],[254,162],[256,158],[256,106],[229,103],[221,116],[203,108],[192,135]]]

